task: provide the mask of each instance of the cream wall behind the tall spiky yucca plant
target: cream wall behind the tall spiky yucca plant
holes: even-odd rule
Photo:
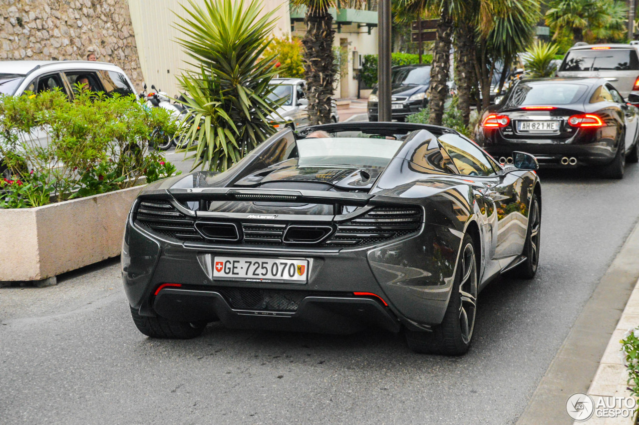
[[[204,5],[203,0],[194,0],[194,3]],[[185,60],[188,59],[181,46],[174,41],[181,36],[180,31],[174,28],[175,22],[179,22],[175,13],[187,16],[180,4],[188,5],[189,2],[128,0],[144,81],[149,89],[151,84],[155,84],[156,88],[166,91],[169,96],[180,91],[176,76],[187,66]],[[278,6],[275,13],[278,19],[274,31],[276,36],[290,33],[288,0],[263,0],[265,12],[275,10]]]

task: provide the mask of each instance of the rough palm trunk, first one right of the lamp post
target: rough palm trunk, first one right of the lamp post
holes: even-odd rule
[[[442,125],[443,104],[448,93],[448,72],[450,68],[450,45],[452,43],[452,19],[447,10],[442,9],[442,15],[437,24],[437,40],[433,49],[433,67],[431,68],[430,99],[431,108],[429,123]]]

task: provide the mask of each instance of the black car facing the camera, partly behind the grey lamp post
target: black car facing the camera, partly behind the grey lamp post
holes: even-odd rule
[[[403,121],[406,116],[415,114],[428,105],[426,91],[431,82],[430,65],[393,66],[391,70],[391,114],[392,119]],[[449,86],[450,91],[452,87]],[[378,120],[377,86],[368,98],[368,120]]]

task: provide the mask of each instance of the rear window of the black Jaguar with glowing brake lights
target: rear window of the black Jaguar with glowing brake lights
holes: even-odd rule
[[[587,91],[585,84],[557,82],[521,83],[512,89],[506,106],[569,105],[576,102]]]

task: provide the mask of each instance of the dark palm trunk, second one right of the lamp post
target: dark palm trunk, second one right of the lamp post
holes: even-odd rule
[[[455,31],[456,61],[455,82],[457,83],[458,108],[464,125],[470,121],[470,104],[473,81],[475,81],[475,27],[468,22],[460,22]]]

